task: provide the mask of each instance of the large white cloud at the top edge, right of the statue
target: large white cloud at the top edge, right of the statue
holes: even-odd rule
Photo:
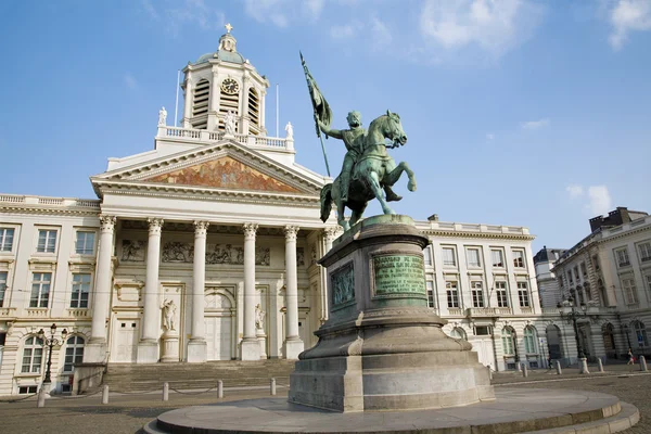
[[[426,0],[420,30],[446,50],[476,44],[500,56],[526,41],[541,16],[528,0]]]

